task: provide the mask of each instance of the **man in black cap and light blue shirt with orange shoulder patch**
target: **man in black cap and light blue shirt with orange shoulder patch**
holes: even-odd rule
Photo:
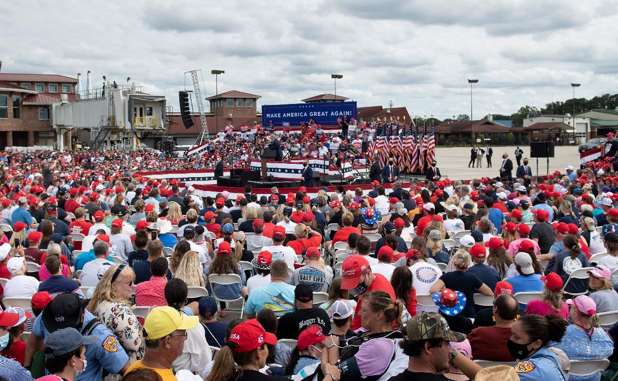
[[[26,344],[26,354],[23,365],[30,367],[34,353],[43,346],[43,339],[56,330],[72,327],[83,335],[95,335],[98,340],[86,346],[87,367],[75,381],[100,380],[103,369],[110,374],[123,375],[129,369],[129,356],[118,342],[111,330],[98,322],[95,316],[85,311],[80,299],[74,293],[64,293],[56,296],[36,317],[32,327],[32,335]]]

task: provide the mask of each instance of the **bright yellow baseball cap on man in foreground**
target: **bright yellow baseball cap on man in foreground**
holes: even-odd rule
[[[179,329],[192,329],[200,322],[197,316],[186,316],[177,309],[169,306],[153,308],[146,316],[144,330],[148,340],[166,337]]]

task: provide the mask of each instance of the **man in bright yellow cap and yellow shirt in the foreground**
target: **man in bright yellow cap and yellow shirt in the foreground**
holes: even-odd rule
[[[163,381],[176,380],[172,372],[172,362],[182,354],[187,330],[198,323],[197,316],[186,316],[172,307],[153,308],[144,322],[144,358],[133,362],[127,372],[136,368],[148,368],[161,375]]]

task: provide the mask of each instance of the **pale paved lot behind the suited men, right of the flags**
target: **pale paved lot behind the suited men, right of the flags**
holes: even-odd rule
[[[522,147],[523,157],[530,155],[530,147]],[[502,164],[502,154],[509,153],[509,159],[513,161],[513,175],[517,169],[517,161],[515,161],[515,146],[512,147],[496,147],[493,148],[494,154],[492,157],[493,167],[487,168],[485,156],[483,156],[482,167],[468,168],[470,162],[470,147],[454,147],[454,148],[436,148],[436,159],[438,168],[442,174],[447,175],[452,180],[478,178],[482,176],[496,177]],[[556,147],[556,157],[549,159],[549,173],[554,170],[559,170],[564,174],[564,168],[567,165],[573,165],[575,169],[579,168],[580,156],[577,152],[577,146],[560,146]],[[536,159],[530,159],[533,175],[546,175],[547,159],[538,159],[538,170],[536,168]]]

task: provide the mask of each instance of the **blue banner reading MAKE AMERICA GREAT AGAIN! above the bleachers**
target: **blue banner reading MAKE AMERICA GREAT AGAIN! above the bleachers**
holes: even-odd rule
[[[272,120],[275,127],[281,127],[284,122],[299,126],[313,119],[322,126],[336,126],[339,125],[337,119],[344,116],[348,120],[357,119],[356,112],[356,102],[273,104],[262,106],[262,125]]]

